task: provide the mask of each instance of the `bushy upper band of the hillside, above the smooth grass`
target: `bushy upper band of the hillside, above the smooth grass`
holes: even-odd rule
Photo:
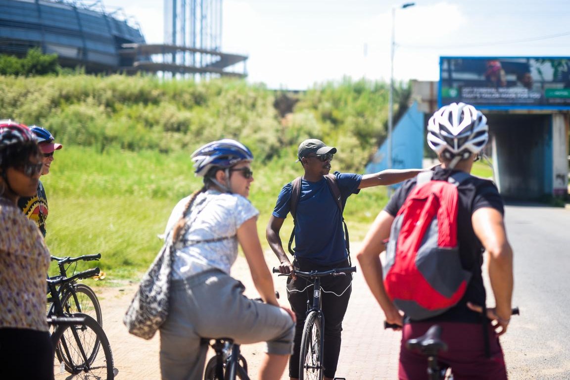
[[[222,137],[241,140],[268,161],[294,157],[308,137],[343,152],[343,167],[359,169],[386,132],[384,83],[327,83],[296,95],[282,119],[280,95],[242,80],[162,81],[152,76],[0,76],[0,117],[43,125],[67,145],[97,152],[193,149]]]

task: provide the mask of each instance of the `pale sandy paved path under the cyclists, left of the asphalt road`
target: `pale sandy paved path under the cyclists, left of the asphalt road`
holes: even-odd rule
[[[267,261],[273,265],[274,260],[268,255]],[[232,275],[245,284],[246,295],[257,296],[244,258],[238,258],[232,268]],[[282,295],[283,303],[287,304],[285,278],[275,276],[274,281],[276,289]],[[152,340],[145,341],[129,334],[123,325],[124,312],[136,289],[137,284],[127,283],[95,289],[103,309],[103,327],[111,342],[115,367],[119,371],[117,379],[160,379],[158,365],[160,337],[158,334]],[[362,276],[357,273],[353,281],[351,303],[345,317],[338,377],[351,380],[396,378],[398,334],[382,329],[379,321],[382,321],[380,309],[372,299]],[[363,342],[373,342],[373,346],[363,344]],[[262,349],[263,344],[242,346],[252,379],[255,379],[262,357]],[[209,357],[211,355],[212,353],[209,353]],[[370,363],[373,365],[369,365]],[[276,380],[286,379],[288,377],[284,375],[282,379]]]

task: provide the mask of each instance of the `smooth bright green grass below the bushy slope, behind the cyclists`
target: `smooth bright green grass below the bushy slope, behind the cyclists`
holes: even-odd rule
[[[254,162],[251,202],[260,211],[258,230],[268,250],[265,228],[282,186],[302,174],[294,158]],[[333,169],[344,170],[336,167]],[[98,263],[107,279],[134,279],[154,259],[176,203],[202,186],[194,177],[190,152],[125,152],[66,145],[55,153],[50,174],[42,177],[50,214],[46,243],[52,255],[101,252]],[[365,189],[349,198],[345,217],[353,241],[364,237],[386,203],[382,188]],[[282,227],[287,243],[291,218]],[[79,264],[78,268],[92,267]]]

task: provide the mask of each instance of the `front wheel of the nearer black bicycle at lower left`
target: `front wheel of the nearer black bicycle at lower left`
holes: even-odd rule
[[[58,379],[115,378],[111,345],[103,328],[87,314],[81,325],[58,326],[51,336],[54,345],[54,377]]]

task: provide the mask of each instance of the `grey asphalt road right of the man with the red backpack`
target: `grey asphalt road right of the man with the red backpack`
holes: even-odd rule
[[[502,339],[511,379],[570,379],[570,210],[508,205],[520,316]]]

